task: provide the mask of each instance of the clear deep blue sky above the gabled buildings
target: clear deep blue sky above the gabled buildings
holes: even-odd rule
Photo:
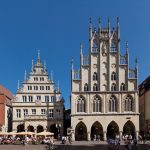
[[[50,74],[60,82],[66,108],[70,107],[70,61],[79,67],[80,43],[88,53],[89,18],[93,26],[111,28],[120,17],[121,52],[128,41],[130,66],[139,62],[139,83],[150,75],[149,0],[1,0],[0,1],[0,83],[16,93],[17,81],[29,73],[38,49]]]

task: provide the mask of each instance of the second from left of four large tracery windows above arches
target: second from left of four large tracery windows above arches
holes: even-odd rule
[[[93,100],[93,112],[101,112],[101,106],[101,98],[96,95]]]

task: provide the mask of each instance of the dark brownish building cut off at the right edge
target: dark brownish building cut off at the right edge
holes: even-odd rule
[[[139,85],[140,131],[150,134],[150,76]]]

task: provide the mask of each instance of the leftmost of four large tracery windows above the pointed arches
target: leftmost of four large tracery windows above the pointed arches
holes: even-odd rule
[[[85,99],[82,96],[77,99],[77,112],[85,112]]]

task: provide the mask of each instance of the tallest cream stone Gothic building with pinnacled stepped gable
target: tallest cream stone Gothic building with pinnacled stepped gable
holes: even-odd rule
[[[139,133],[138,64],[129,68],[129,51],[120,53],[120,25],[89,27],[89,54],[80,47],[80,69],[71,70],[73,140],[94,140]]]

